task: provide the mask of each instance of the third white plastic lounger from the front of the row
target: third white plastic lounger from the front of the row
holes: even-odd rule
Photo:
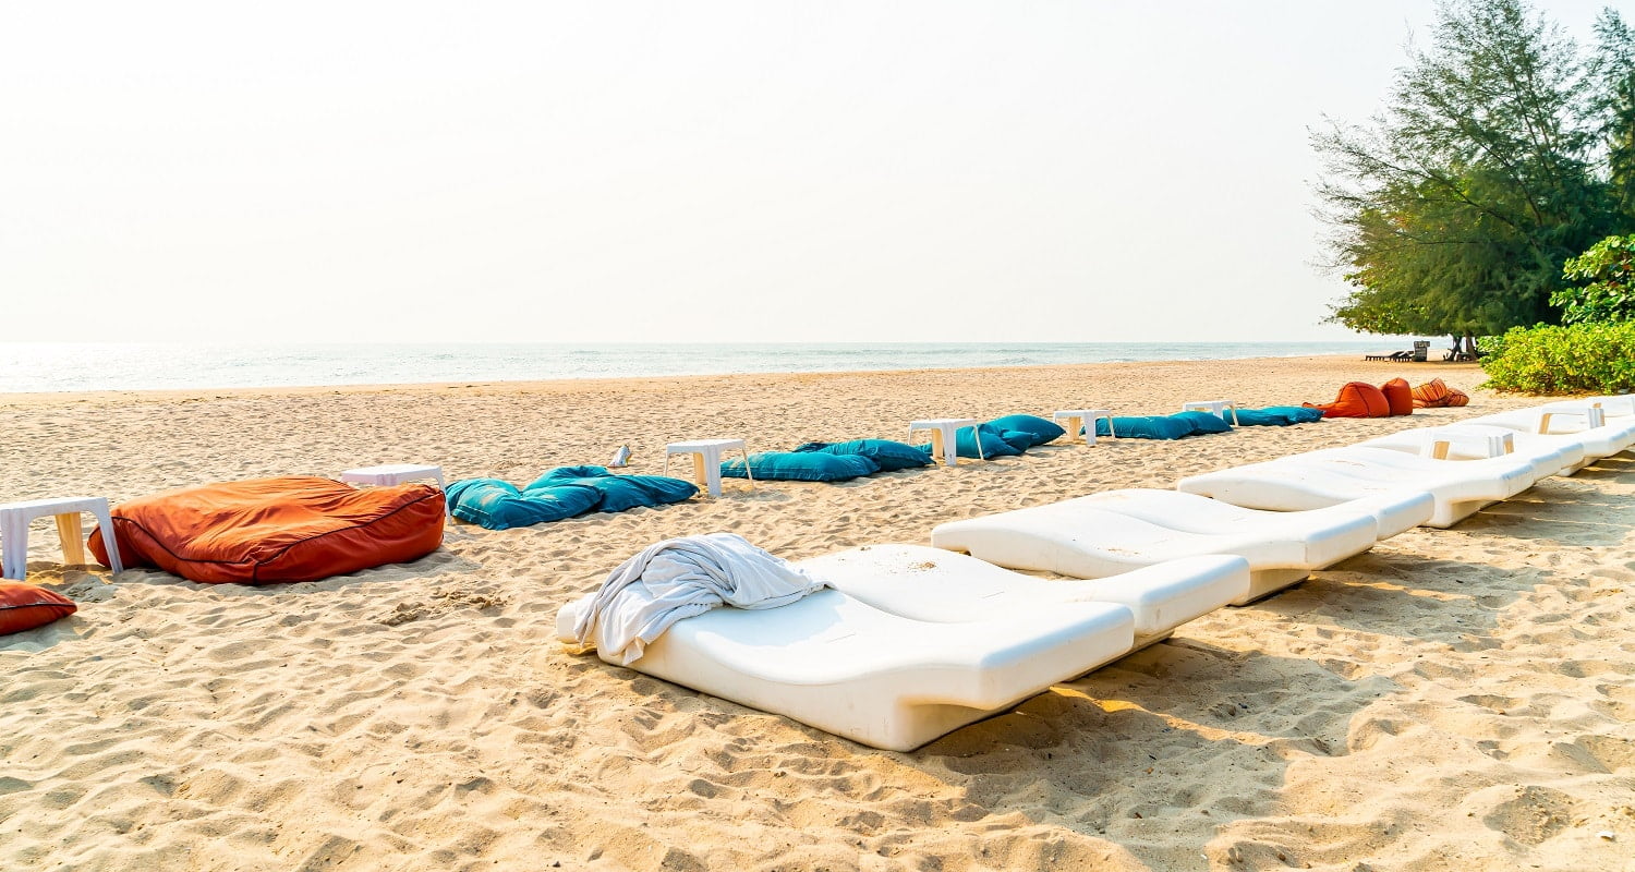
[[[1372,509],[1282,515],[1272,524],[1244,520],[1239,527],[1189,532],[1079,497],[940,524],[930,542],[999,566],[1092,579],[1184,556],[1238,555],[1249,561],[1249,591],[1233,604],[1244,605],[1367,551],[1378,532]]]

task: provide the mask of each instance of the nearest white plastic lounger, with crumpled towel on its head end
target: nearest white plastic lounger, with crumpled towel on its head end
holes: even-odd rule
[[[558,614],[567,645],[576,620],[574,604]],[[629,667],[907,751],[1133,646],[1135,617],[1112,602],[996,602],[978,620],[945,623],[819,591],[777,609],[719,607],[679,620]]]

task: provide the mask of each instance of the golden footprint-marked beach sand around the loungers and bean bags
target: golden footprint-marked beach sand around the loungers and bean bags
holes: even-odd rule
[[[643,545],[786,558],[1447,422],[1527,398],[1354,358],[0,398],[0,494],[386,461],[526,481],[628,442],[903,438],[916,417],[1331,399],[1432,375],[1465,409],[1104,440],[525,530],[453,525],[316,584],[110,582],[0,640],[0,869],[1635,869],[1635,460],[1419,528],[919,751],[569,656],[558,609]],[[1607,838],[1610,836],[1610,838]]]

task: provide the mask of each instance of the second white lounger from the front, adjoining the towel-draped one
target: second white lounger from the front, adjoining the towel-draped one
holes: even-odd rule
[[[796,566],[875,609],[935,623],[983,620],[996,609],[1050,614],[1064,602],[1112,602],[1130,610],[1135,648],[1249,592],[1249,563],[1223,555],[1171,560],[1094,581],[1024,576],[924,545],[865,545]]]

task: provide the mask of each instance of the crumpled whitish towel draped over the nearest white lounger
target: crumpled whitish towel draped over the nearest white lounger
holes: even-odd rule
[[[827,584],[737,533],[708,533],[643,548],[569,609],[577,615],[580,651],[600,648],[629,666],[682,618],[721,604],[777,609],[822,587]]]

